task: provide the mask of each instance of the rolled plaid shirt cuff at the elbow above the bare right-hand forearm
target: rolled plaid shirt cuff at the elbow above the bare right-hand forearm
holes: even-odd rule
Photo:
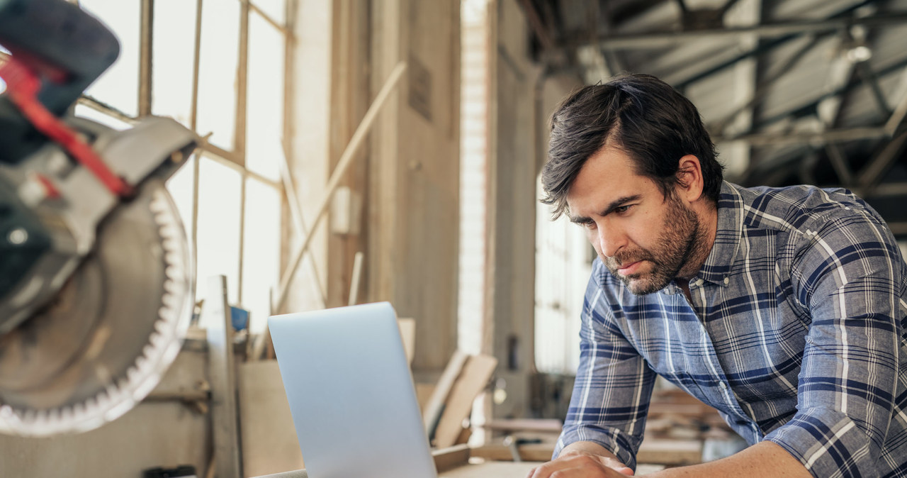
[[[834,410],[800,412],[766,435],[815,477],[880,476],[878,447],[849,416]]]

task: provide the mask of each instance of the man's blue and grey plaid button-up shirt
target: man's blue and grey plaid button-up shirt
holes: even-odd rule
[[[590,441],[635,468],[658,374],[814,476],[907,476],[907,265],[883,219],[846,190],[728,182],[717,214],[691,301],[596,259],[554,455]]]

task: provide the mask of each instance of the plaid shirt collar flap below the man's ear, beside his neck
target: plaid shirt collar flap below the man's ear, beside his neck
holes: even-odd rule
[[[715,243],[706,262],[699,269],[698,278],[727,287],[731,265],[734,264],[740,236],[743,233],[743,198],[740,191],[727,181],[721,182],[718,197],[718,219]]]

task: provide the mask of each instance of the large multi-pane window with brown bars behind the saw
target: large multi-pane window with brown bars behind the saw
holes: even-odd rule
[[[204,138],[167,184],[195,251],[196,297],[226,276],[229,303],[263,331],[279,275],[287,0],[78,4],[111,28],[121,54],[76,114],[119,129],[169,116]]]

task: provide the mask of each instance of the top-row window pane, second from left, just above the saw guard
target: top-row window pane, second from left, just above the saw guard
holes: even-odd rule
[[[190,126],[195,2],[154,1],[151,112]]]

